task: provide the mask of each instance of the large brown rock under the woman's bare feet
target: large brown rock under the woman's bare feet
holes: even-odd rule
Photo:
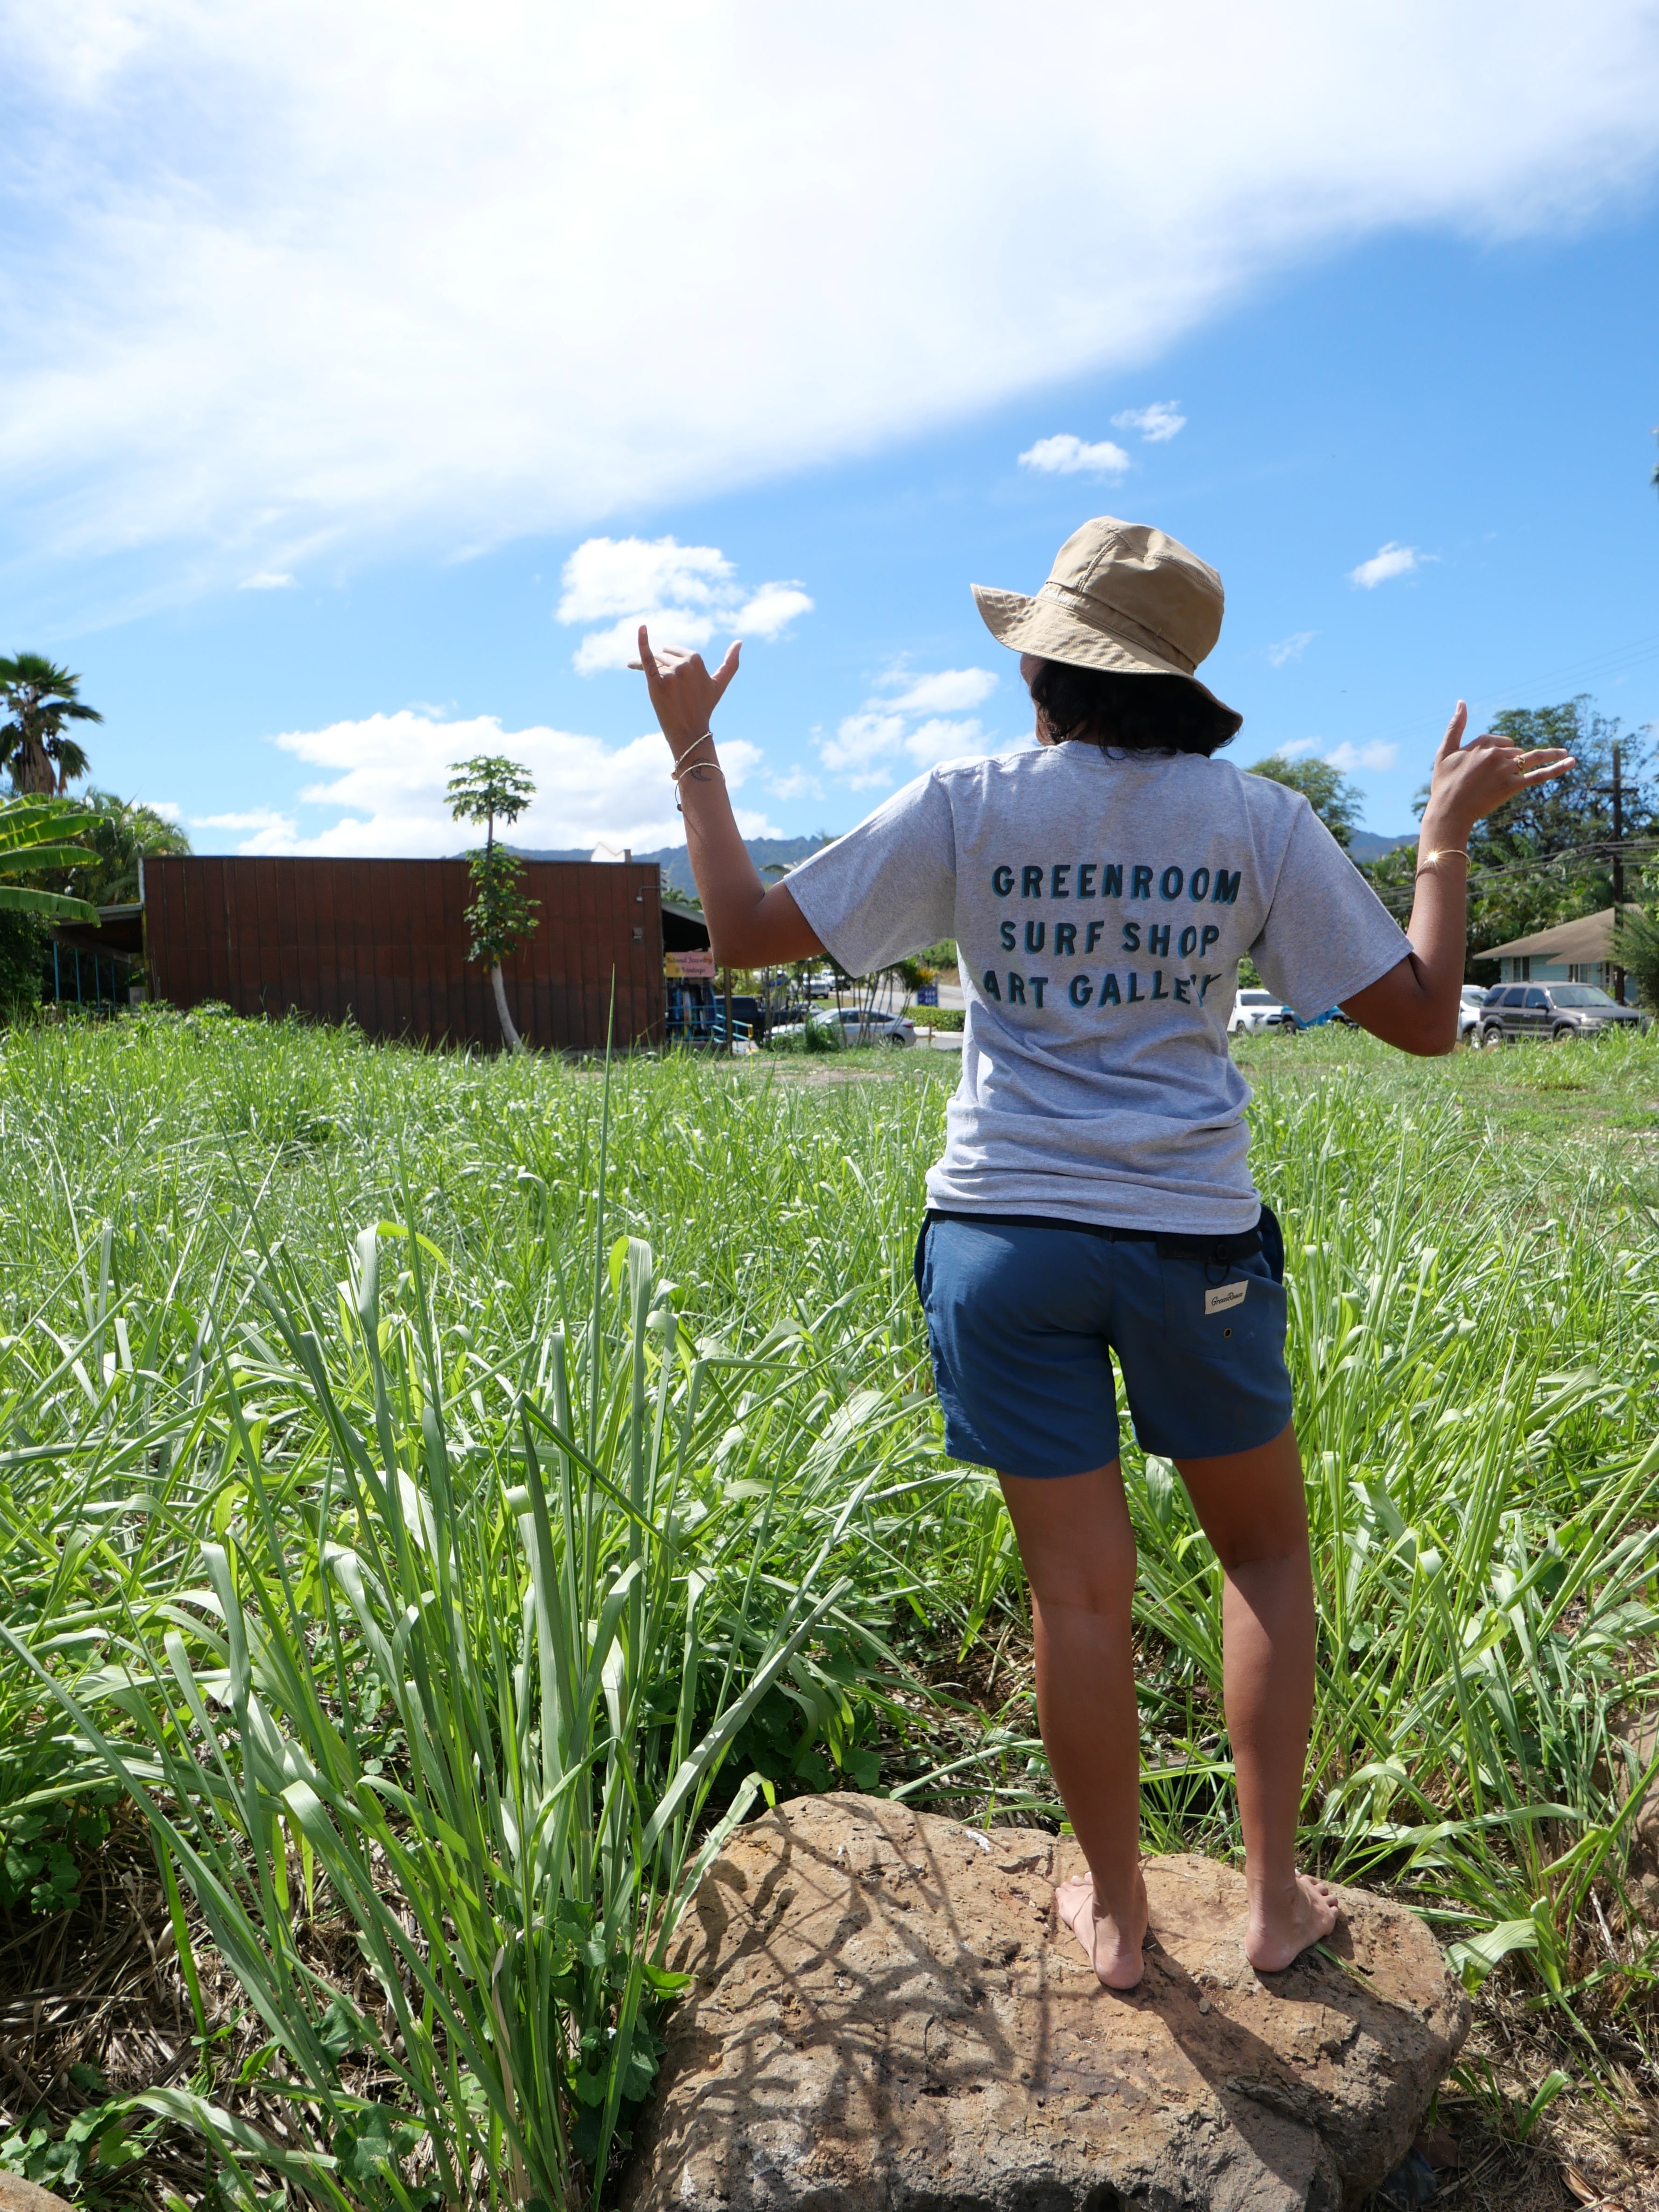
[[[1334,1958],[1259,1975],[1243,1876],[1152,1858],[1124,1997],[1055,1933],[1079,1865],[858,1796],[739,1829],[675,1940],[695,1986],[626,2212],[1334,2212],[1376,2188],[1467,2033],[1422,1922],[1345,1889]]]

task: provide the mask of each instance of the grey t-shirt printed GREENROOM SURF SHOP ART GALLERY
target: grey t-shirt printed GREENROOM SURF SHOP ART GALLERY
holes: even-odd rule
[[[958,940],[962,1082],[927,1177],[953,1212],[1252,1228],[1241,956],[1312,1018],[1409,951],[1301,792],[1077,741],[933,768],[790,891],[852,975]]]

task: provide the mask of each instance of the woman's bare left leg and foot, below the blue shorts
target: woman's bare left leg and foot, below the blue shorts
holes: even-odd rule
[[[1002,1475],[1037,1639],[1037,1721],[1088,1876],[1060,1918],[1108,1989],[1141,1978],[1141,1725],[1130,1604],[1135,1533],[1117,1460],[1086,1475]]]

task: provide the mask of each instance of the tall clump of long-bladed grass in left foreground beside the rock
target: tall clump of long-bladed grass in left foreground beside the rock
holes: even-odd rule
[[[356,1239],[327,1301],[261,1261],[197,1378],[201,1582],[128,1599],[60,1699],[259,2011],[265,2090],[319,2115],[279,2163],[341,2201],[564,2203],[650,2086],[668,1936],[757,1796],[750,1774],[706,1823],[728,1752],[785,1679],[834,1712],[810,1646],[878,1661],[916,1586],[900,1562],[872,1582],[872,1526],[936,1482],[931,1440],[825,1387],[812,1329],[688,1343],[639,1239],[575,1327],[549,1279],[507,1367],[400,1225]],[[319,1887],[372,2013],[296,1940]],[[376,2097],[345,2088],[347,2053]],[[223,2132],[199,2099],[157,2110]]]

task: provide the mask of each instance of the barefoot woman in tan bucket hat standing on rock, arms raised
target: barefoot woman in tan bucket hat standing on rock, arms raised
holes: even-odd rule
[[[995,1469],[1037,1639],[1037,1714],[1088,1876],[1060,1913],[1108,1989],[1141,1978],[1135,1537],[1113,1354],[1144,1451],[1177,1464],[1225,1575],[1225,1714],[1265,1973],[1336,1922],[1296,1871],[1314,1586],[1285,1374],[1283,1243],[1228,1055],[1239,960],[1296,1013],[1340,1004],[1405,1053],[1458,1040],[1469,832],[1564,752],[1436,757],[1402,936],[1307,801],[1214,752],[1241,717],[1194,668],[1221,577],[1164,531],[1075,531],[1035,597],[975,586],[1020,653],[1035,748],[947,761],[765,887],[710,719],[737,675],[653,655],[690,865],[734,967],[832,953],[854,975],[956,938],[967,1018],[916,1281],[945,1440]]]

